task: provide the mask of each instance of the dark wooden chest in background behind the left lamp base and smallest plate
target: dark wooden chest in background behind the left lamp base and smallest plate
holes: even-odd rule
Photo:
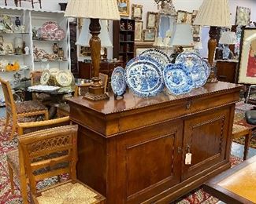
[[[113,69],[115,67],[124,67],[122,62],[101,62],[99,72],[106,74],[111,78]],[[79,62],[79,77],[80,78],[91,78],[93,75],[93,67],[91,62]]]

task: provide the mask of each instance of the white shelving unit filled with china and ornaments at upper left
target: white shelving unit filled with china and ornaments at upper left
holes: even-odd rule
[[[65,12],[0,6],[0,13],[0,71],[12,87],[18,86],[13,76],[17,71],[22,79],[29,78],[31,71],[52,67],[70,70],[69,24]]]

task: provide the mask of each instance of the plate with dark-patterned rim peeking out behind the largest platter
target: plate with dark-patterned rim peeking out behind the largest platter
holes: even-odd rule
[[[171,59],[165,53],[159,49],[147,49],[143,51],[139,56],[150,56],[153,60],[156,60],[159,64],[162,65],[162,70],[165,66],[171,63]]]

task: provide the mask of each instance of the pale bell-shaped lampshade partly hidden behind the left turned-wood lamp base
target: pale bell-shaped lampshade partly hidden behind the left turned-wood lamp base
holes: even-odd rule
[[[90,20],[83,19],[83,27],[82,31],[80,32],[79,38],[76,41],[77,46],[83,46],[83,47],[89,47],[89,42],[91,39],[91,34],[89,31],[89,24]],[[106,48],[112,48],[113,44],[109,37],[109,31],[107,28],[107,20],[100,20],[100,24],[102,27],[101,33],[98,35],[98,37],[101,39],[101,46]]]

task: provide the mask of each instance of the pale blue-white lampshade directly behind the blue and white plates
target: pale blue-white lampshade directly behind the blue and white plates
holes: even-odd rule
[[[191,24],[175,24],[171,46],[194,46]]]

